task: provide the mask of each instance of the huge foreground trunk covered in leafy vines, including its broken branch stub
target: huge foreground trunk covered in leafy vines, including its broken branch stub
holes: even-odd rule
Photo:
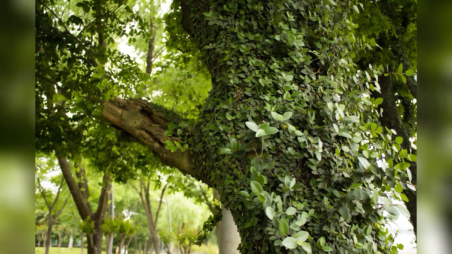
[[[399,175],[415,157],[374,123],[381,67],[353,70],[348,53],[375,46],[354,37],[355,8],[182,0],[182,27],[212,75],[198,120],[141,99],[104,103],[104,119],[216,188],[241,253],[389,253],[381,224],[405,213],[390,199],[409,184]]]

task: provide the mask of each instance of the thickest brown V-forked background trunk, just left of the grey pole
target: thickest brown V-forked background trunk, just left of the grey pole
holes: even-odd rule
[[[80,217],[82,220],[86,220],[89,217],[91,221],[94,221],[94,234],[87,237],[87,253],[100,254],[103,239],[102,224],[104,223],[104,217],[108,206],[108,194],[111,187],[111,184],[109,183],[111,182],[111,177],[108,174],[104,174],[102,182],[103,187],[100,192],[98,207],[97,210],[93,212],[91,204],[88,201],[89,188],[85,177],[85,169],[82,165],[76,165],[78,168],[78,171],[76,172],[76,181],[72,175],[71,167],[66,157],[60,155],[58,151],[55,151],[55,154]]]

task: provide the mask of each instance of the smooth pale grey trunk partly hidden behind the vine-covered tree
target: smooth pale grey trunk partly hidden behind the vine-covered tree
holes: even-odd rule
[[[219,253],[220,254],[239,254],[237,248],[240,244],[240,235],[235,226],[234,219],[231,212],[221,205],[221,227],[217,232],[220,233],[219,237]],[[218,225],[217,225],[218,226]]]

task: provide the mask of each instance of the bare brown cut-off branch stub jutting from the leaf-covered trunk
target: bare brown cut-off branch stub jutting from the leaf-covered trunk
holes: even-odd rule
[[[208,183],[207,179],[193,170],[188,149],[183,152],[179,149],[174,152],[166,149],[165,141],[167,140],[181,142],[176,137],[165,136],[169,122],[177,124],[183,120],[174,112],[142,99],[116,98],[104,103],[102,116],[107,122],[128,132],[148,146],[160,157],[164,165],[178,168],[182,173]]]

